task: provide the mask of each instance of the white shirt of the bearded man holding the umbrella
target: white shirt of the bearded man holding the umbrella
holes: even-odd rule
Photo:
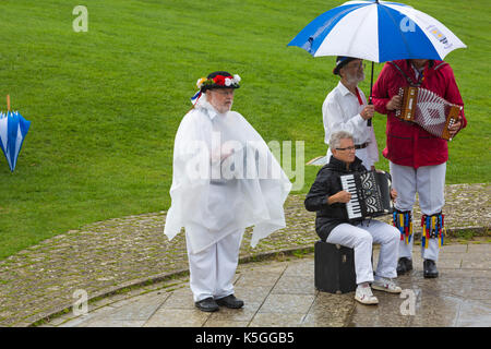
[[[336,131],[347,131],[352,134],[356,145],[369,142],[364,149],[357,149],[357,156],[363,160],[363,165],[370,169],[374,163],[379,161],[379,147],[376,146],[373,127],[367,127],[367,120],[361,118],[361,110],[367,106],[367,98],[363,92],[358,88],[362,104],[339,81],[337,86],[327,95],[322,105],[322,117],[325,130],[325,144],[330,144],[330,136]],[[327,154],[330,155],[331,152]],[[328,158],[327,158],[328,160]]]

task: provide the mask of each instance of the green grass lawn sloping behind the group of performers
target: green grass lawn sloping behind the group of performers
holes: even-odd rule
[[[75,33],[79,2],[1,1],[0,109],[10,94],[32,125],[15,172],[0,159],[0,258],[92,221],[167,209],[173,136],[196,80],[214,70],[241,75],[233,108],[266,142],[304,141],[306,160],[325,154],[334,58],[287,44],[342,2],[86,0],[88,32]],[[468,46],[446,59],[469,121],[451,143],[447,183],[489,182],[489,1],[407,3]],[[382,152],[383,116],[374,127]],[[306,167],[300,192],[318,170]]]

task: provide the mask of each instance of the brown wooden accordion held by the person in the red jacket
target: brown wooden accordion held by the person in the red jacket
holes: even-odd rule
[[[452,140],[448,127],[457,121],[460,106],[422,87],[399,88],[399,96],[403,97],[403,107],[396,111],[397,118],[415,122],[432,135]]]

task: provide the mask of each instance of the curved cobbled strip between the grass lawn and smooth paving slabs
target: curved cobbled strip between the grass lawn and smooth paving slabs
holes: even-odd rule
[[[445,222],[452,232],[489,230],[491,186],[447,185]],[[241,261],[312,250],[318,240],[313,213],[303,208],[304,195],[290,195],[285,205],[287,227],[250,248],[246,233]],[[71,308],[74,291],[97,299],[133,286],[185,273],[183,234],[168,241],[163,234],[165,212],[95,222],[81,230],[45,240],[0,262],[0,326],[29,326]],[[419,218],[415,209],[416,221]],[[390,217],[384,218],[385,221]]]

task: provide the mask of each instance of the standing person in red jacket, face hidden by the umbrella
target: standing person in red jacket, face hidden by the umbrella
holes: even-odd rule
[[[418,192],[424,230],[421,236],[423,275],[431,278],[439,275],[436,261],[444,232],[442,208],[448,147],[447,141],[395,117],[395,111],[402,107],[399,87],[407,85],[430,89],[455,105],[464,106],[464,103],[452,68],[444,61],[411,59],[387,62],[373,86],[375,110],[387,115],[383,155],[390,160],[393,186],[398,193],[394,213],[394,225],[402,231],[397,273],[412,269],[411,212]],[[454,137],[466,124],[462,109],[458,121],[450,129],[451,136]]]

